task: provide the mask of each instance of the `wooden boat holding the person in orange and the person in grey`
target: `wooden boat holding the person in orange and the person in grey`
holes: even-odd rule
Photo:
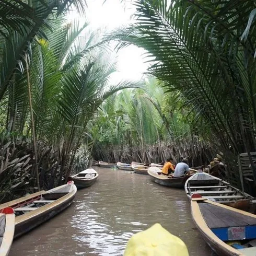
[[[171,188],[184,188],[185,181],[190,178],[190,175],[174,178],[172,176],[166,176],[161,174],[161,170],[157,167],[150,167],[147,171],[150,178],[160,184]]]

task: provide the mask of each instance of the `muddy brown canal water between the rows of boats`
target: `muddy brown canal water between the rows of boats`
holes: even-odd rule
[[[211,255],[183,190],[130,171],[95,169],[97,182],[78,190],[64,212],[15,240],[9,256],[122,255],[133,234],[155,223],[180,237],[190,256]]]

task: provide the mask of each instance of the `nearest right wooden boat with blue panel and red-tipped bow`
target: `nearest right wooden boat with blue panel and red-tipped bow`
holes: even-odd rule
[[[222,256],[256,255],[256,215],[193,194],[191,213],[204,240]]]

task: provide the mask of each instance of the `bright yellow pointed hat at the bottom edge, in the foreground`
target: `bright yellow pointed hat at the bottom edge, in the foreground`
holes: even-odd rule
[[[185,243],[160,224],[133,235],[124,256],[189,256]]]

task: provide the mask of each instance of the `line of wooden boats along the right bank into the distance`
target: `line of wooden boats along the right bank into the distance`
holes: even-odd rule
[[[183,177],[166,176],[161,174],[163,166],[158,164],[98,164],[148,174],[155,183],[184,189],[191,203],[193,221],[214,252],[223,256],[256,255],[255,200],[227,181],[202,170]]]

